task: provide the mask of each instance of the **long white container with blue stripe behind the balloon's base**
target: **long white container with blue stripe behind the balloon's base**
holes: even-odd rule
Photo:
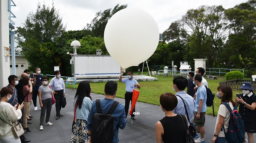
[[[74,55],[74,78],[117,78],[121,66],[110,55]]]

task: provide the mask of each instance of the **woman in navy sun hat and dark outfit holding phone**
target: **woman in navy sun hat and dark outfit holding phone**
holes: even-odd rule
[[[239,113],[244,119],[244,128],[248,135],[248,143],[253,143],[253,133],[256,133],[256,95],[252,92],[254,89],[249,82],[243,82],[240,89],[243,93],[235,101],[237,106],[239,106]],[[244,138],[244,143],[246,141]]]

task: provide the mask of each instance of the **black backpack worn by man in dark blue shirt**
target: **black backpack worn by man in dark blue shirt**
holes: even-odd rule
[[[102,113],[100,99],[97,99],[95,103],[98,113],[93,115],[91,142],[112,143],[114,138],[114,117],[111,114],[114,112],[119,102],[114,101],[107,113]]]

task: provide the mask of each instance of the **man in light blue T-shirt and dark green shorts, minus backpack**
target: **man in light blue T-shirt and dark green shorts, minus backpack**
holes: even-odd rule
[[[204,120],[205,120],[205,112],[207,110],[206,106],[206,88],[202,84],[202,76],[199,74],[196,74],[193,78],[193,83],[197,85],[197,91],[194,96],[196,106],[195,106],[195,125],[196,125],[196,132],[200,129],[200,138],[195,140],[195,143],[205,143],[204,141]]]

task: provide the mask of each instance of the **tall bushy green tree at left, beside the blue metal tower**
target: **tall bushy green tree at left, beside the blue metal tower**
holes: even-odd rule
[[[64,31],[62,18],[53,3],[51,7],[38,3],[37,11],[29,13],[23,27],[17,27],[16,39],[32,71],[39,66],[44,73],[53,74],[54,65],[61,66],[58,55],[60,43],[64,43]]]

